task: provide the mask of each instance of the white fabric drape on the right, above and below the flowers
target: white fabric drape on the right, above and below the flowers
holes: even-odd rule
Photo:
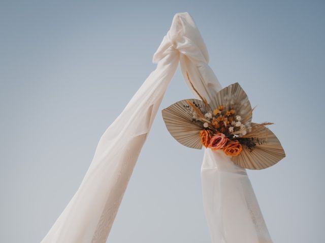
[[[182,74],[195,96],[188,79],[212,103],[211,97],[221,90],[221,85],[208,65],[208,52],[195,23],[187,13],[181,16],[189,23],[191,33],[190,39],[181,42],[190,46],[180,51]],[[236,166],[222,151],[205,149],[201,179],[212,243],[272,242],[245,169]]]

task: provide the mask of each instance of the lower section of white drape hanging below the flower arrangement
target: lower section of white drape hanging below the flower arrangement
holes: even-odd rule
[[[201,179],[212,243],[272,242],[245,169],[206,149]]]

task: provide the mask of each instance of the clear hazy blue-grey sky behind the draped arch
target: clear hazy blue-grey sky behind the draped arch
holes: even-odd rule
[[[325,242],[325,2],[299,0],[2,0],[1,242],[45,236],[177,12],[196,21],[222,86],[239,82],[253,121],[275,123],[286,158],[248,172],[274,242]],[[160,108],[192,97],[178,71]],[[210,242],[202,157],[159,111],[108,242]]]

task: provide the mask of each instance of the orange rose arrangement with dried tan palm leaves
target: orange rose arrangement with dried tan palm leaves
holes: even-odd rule
[[[280,141],[266,127],[272,123],[251,122],[253,108],[238,83],[209,94],[209,102],[192,88],[200,100],[181,100],[163,110],[166,127],[178,142],[223,150],[236,165],[254,170],[268,168],[285,156]]]

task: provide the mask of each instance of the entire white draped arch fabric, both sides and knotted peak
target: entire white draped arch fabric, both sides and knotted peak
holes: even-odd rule
[[[208,65],[201,34],[188,13],[175,15],[153,61],[156,69],[101,137],[80,187],[42,243],[106,242],[178,63],[189,88],[193,91],[187,75],[208,102],[221,89]],[[206,149],[201,177],[212,243],[272,242],[245,169],[223,152]]]

